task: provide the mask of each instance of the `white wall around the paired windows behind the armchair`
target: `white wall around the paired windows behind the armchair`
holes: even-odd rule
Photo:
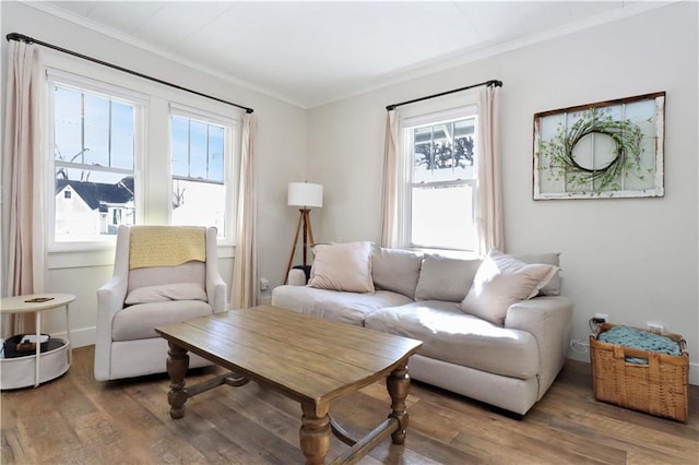
[[[2,16],[0,47],[3,64],[7,62],[8,48],[4,37],[9,33],[16,32],[253,108],[258,119],[256,159],[259,172],[259,273],[260,276],[269,277],[272,283],[282,281],[283,267],[286,264],[285,257],[291,247],[296,220],[296,211],[286,206],[286,186],[291,181],[305,177],[306,110],[22,3],[3,1],[0,2],[0,9]],[[5,86],[7,73],[3,68],[3,96]],[[75,302],[71,306],[70,315],[75,346],[94,343],[97,303],[95,291],[111,275],[109,263],[114,251],[104,251],[97,255],[90,254],[87,261],[92,265],[75,267],[75,263],[85,263],[83,255],[52,253],[49,257],[51,269],[48,273],[46,289],[76,296]],[[222,259],[220,267],[224,279],[230,284],[233,259]],[[63,331],[61,315],[59,312],[56,313],[46,327],[49,331],[61,332]]]

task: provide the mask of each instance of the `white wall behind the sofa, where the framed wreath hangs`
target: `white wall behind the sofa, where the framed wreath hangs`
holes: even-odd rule
[[[501,80],[507,251],[561,252],[574,338],[595,312],[661,321],[687,339],[699,384],[697,29],[697,3],[676,3],[310,110],[309,177],[325,186],[317,240],[379,240],[386,105]],[[659,91],[664,198],[532,200],[535,112]]]

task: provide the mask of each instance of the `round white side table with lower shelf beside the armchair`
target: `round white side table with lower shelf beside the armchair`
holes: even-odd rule
[[[54,379],[68,371],[68,367],[72,363],[72,347],[70,346],[70,323],[69,323],[69,305],[75,300],[75,296],[70,294],[29,294],[25,296],[3,297],[0,300],[0,313],[28,313],[33,312],[36,315],[36,351],[34,354],[35,372],[34,372],[34,386],[38,386],[42,382],[40,360],[42,360],[42,312],[46,310],[54,310],[59,308],[66,309],[66,347],[68,350],[68,366],[61,372],[55,373],[49,379]],[[12,359],[3,359],[12,360]],[[44,381],[48,381],[45,379]],[[25,385],[12,385],[9,389],[23,388]],[[0,385],[0,389],[8,389]]]

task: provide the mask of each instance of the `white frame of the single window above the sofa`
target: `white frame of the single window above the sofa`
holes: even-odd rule
[[[474,118],[474,169],[477,169],[478,163],[478,107],[477,95],[461,96],[461,98],[450,98],[446,102],[429,102],[424,105],[416,105],[407,110],[401,110],[399,123],[399,172],[401,179],[399,181],[399,242],[404,248],[418,249],[433,252],[443,252],[445,254],[460,255],[475,253],[477,243],[474,249],[446,249],[435,245],[417,245],[412,240],[412,189],[414,187],[424,186],[413,180],[413,133],[415,128],[424,126],[434,126],[457,119]],[[410,150],[410,152],[408,152]],[[472,198],[472,222],[475,224],[475,211],[477,202],[477,183],[476,179],[460,179],[454,181],[434,181],[435,186],[471,186]],[[476,238],[477,241],[477,238]]]

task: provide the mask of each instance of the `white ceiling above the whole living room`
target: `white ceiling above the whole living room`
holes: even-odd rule
[[[310,108],[664,3],[48,1],[27,4]]]

